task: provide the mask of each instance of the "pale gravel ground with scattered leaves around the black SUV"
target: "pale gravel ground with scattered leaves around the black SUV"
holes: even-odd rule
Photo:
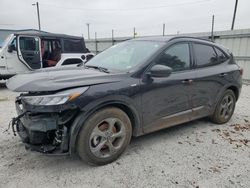
[[[101,167],[26,151],[4,132],[16,95],[0,84],[0,187],[250,187],[250,86],[229,123],[202,119],[134,138]]]

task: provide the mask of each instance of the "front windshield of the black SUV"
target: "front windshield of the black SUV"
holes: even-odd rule
[[[163,45],[163,42],[155,41],[123,42],[93,57],[86,63],[86,67],[97,66],[108,70],[127,72],[145,62]]]

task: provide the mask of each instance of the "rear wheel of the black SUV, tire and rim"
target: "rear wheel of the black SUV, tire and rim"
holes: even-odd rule
[[[230,120],[234,113],[236,97],[232,90],[226,90],[216,105],[211,120],[217,124],[223,124]]]

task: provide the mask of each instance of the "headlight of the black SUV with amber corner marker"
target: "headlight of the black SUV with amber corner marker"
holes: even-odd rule
[[[26,96],[22,97],[22,99],[31,105],[60,105],[66,103],[67,101],[76,99],[82,93],[87,91],[88,88],[89,87],[80,87],[61,91],[53,95]]]

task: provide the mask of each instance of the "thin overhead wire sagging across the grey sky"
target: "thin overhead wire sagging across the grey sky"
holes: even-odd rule
[[[189,2],[183,2],[183,3],[175,3],[175,4],[162,5],[162,6],[154,6],[154,7],[114,8],[114,9],[76,8],[76,7],[58,6],[58,5],[47,4],[47,3],[40,3],[40,4],[41,5],[52,6],[52,7],[55,7],[55,8],[62,8],[62,9],[68,9],[68,10],[80,10],[80,11],[138,11],[138,10],[151,10],[151,9],[161,9],[161,8],[168,8],[168,7],[177,7],[177,6],[183,6],[183,5],[191,5],[191,4],[204,3],[204,2],[208,2],[208,1],[211,1],[211,0],[196,0],[196,1],[189,1]]]

